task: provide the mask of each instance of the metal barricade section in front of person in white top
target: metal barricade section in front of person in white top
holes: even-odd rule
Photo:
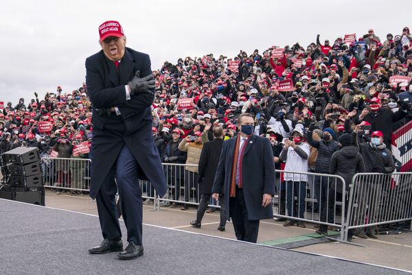
[[[341,228],[343,240],[345,180],[339,175],[289,170],[275,172],[277,195],[273,200],[273,216]]]

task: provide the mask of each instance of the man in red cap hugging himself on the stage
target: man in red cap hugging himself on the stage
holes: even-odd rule
[[[151,131],[155,80],[149,56],[126,47],[119,22],[104,22],[99,34],[102,50],[86,59],[86,83],[93,104],[90,196],[104,241],[89,252],[122,251],[120,259],[135,259],[144,253],[139,179],[150,181],[161,197],[167,190]],[[117,190],[127,228],[124,250]]]

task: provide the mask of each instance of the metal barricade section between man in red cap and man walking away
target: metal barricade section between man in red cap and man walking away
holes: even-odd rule
[[[183,203],[198,206],[201,192],[198,186],[198,165],[196,164],[164,164],[168,193],[159,198],[166,203]],[[216,201],[211,199],[209,207],[220,208]]]

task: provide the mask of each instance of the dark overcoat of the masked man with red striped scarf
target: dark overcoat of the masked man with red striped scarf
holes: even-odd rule
[[[236,138],[223,143],[218,170],[214,179],[212,193],[223,193],[226,200],[227,217],[229,212],[229,195],[231,168]],[[275,194],[275,163],[271,142],[267,138],[252,135],[244,148],[242,160],[242,188],[249,220],[272,219],[272,204],[262,207],[263,194]]]

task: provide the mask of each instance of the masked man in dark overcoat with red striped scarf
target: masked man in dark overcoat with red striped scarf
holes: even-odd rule
[[[224,195],[236,238],[256,243],[260,220],[273,218],[275,163],[269,140],[253,135],[253,115],[242,113],[238,124],[240,134],[223,144],[211,192]]]

